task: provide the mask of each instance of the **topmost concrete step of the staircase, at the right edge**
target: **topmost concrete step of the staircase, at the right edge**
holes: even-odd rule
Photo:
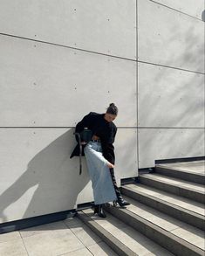
[[[205,184],[205,162],[156,164],[155,172],[193,183]]]

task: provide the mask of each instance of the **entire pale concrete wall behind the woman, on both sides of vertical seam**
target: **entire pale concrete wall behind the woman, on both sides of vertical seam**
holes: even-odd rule
[[[0,0],[0,223],[93,200],[73,128],[110,102],[119,184],[204,155],[203,1],[180,2]]]

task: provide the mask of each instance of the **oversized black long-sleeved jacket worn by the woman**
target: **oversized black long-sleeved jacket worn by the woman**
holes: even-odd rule
[[[117,133],[117,128],[113,121],[106,121],[104,115],[105,114],[98,114],[95,112],[91,112],[85,115],[82,121],[79,121],[79,123],[77,124],[75,132],[80,133],[84,130],[84,128],[92,130],[92,135],[96,135],[100,138],[103,156],[106,158],[107,161],[114,164],[115,155],[113,142]],[[85,146],[83,146],[83,149],[84,148]],[[79,156],[79,145],[77,145],[73,150],[71,158],[72,156]]]

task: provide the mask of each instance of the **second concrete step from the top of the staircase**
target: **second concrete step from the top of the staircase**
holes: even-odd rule
[[[140,183],[205,204],[204,186],[156,173],[140,175]]]

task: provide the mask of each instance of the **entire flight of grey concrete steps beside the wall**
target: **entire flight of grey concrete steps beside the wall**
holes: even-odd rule
[[[107,204],[104,219],[91,209],[79,218],[118,255],[204,256],[204,177],[204,171],[158,164],[154,173],[140,174],[140,183],[121,188],[131,205]]]

